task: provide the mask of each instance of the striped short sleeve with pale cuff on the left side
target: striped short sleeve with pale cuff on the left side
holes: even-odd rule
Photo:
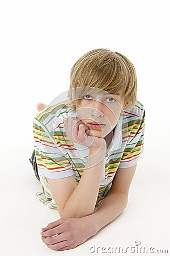
[[[38,173],[50,179],[61,179],[74,174],[66,153],[59,149],[60,143],[43,124],[33,119],[33,141]]]

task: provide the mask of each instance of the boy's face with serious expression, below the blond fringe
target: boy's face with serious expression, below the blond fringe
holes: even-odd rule
[[[122,110],[126,108],[121,94],[103,91],[83,95],[78,101],[76,114],[96,137],[104,138],[117,125]]]

